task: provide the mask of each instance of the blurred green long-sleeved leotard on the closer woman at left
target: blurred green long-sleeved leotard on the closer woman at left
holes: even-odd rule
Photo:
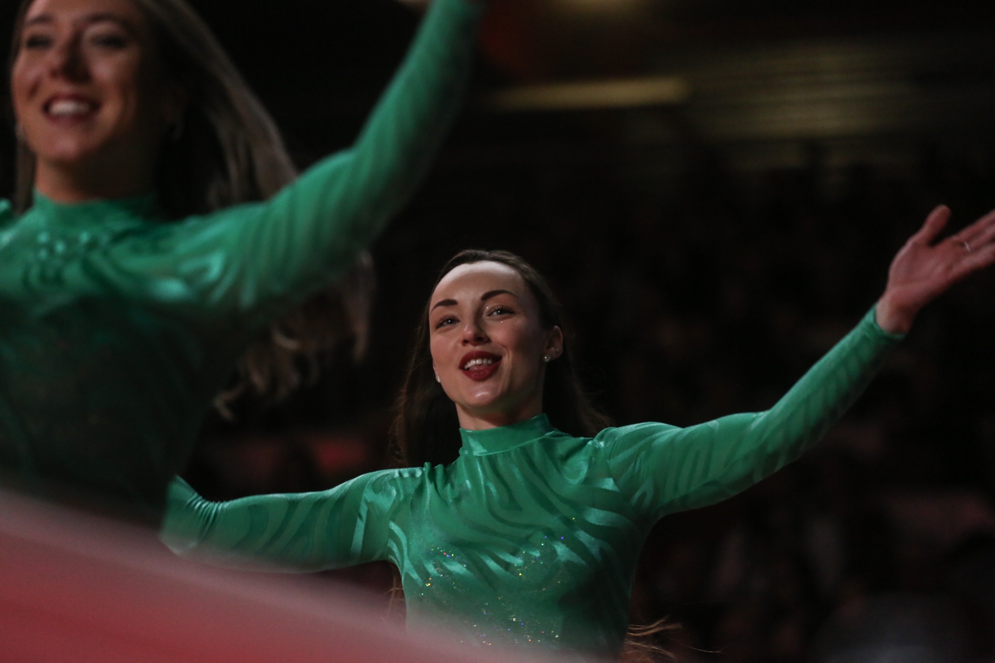
[[[175,223],[153,198],[0,201],[0,472],[161,512],[252,335],[347,268],[427,170],[481,7],[436,0],[351,149],[270,201]]]

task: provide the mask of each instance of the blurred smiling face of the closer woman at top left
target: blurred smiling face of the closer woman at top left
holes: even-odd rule
[[[115,188],[145,193],[185,98],[161,76],[138,7],[131,0],[36,0],[17,48],[11,91],[38,160],[39,190],[58,199],[66,188],[60,177],[76,174],[109,188],[108,195]],[[134,188],[144,191],[126,191]]]

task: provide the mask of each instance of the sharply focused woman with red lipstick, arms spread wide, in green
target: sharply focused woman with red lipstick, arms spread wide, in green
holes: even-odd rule
[[[796,459],[922,306],[995,261],[995,213],[934,244],[948,216],[929,217],[876,307],[771,410],[687,428],[604,427],[542,277],[509,253],[464,251],[435,286],[400,398],[395,431],[414,466],[224,503],[177,479],[163,540],[179,554],[297,571],[388,560],[409,626],[438,620],[468,642],[617,656],[654,524]]]

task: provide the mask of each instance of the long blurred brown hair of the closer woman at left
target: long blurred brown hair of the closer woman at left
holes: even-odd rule
[[[33,1],[22,0],[18,10],[8,71]],[[164,76],[190,95],[181,122],[164,137],[157,164],[155,189],[167,219],[266,200],[294,181],[297,171],[276,123],[196,12],[184,0],[132,1],[149,22]],[[34,153],[18,136],[18,214],[32,205],[35,168]],[[238,383],[219,400],[222,411],[246,392],[283,398],[313,379],[322,354],[350,331],[361,353],[372,283],[365,255],[342,284],[276,322],[240,361]]]

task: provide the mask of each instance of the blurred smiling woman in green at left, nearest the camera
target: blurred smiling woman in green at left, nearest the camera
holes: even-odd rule
[[[0,201],[0,481],[156,519],[237,366],[257,390],[292,388],[300,356],[342,326],[302,304],[327,300],[414,191],[481,13],[436,0],[355,144],[296,178],[184,0],[24,0],[18,185]]]

